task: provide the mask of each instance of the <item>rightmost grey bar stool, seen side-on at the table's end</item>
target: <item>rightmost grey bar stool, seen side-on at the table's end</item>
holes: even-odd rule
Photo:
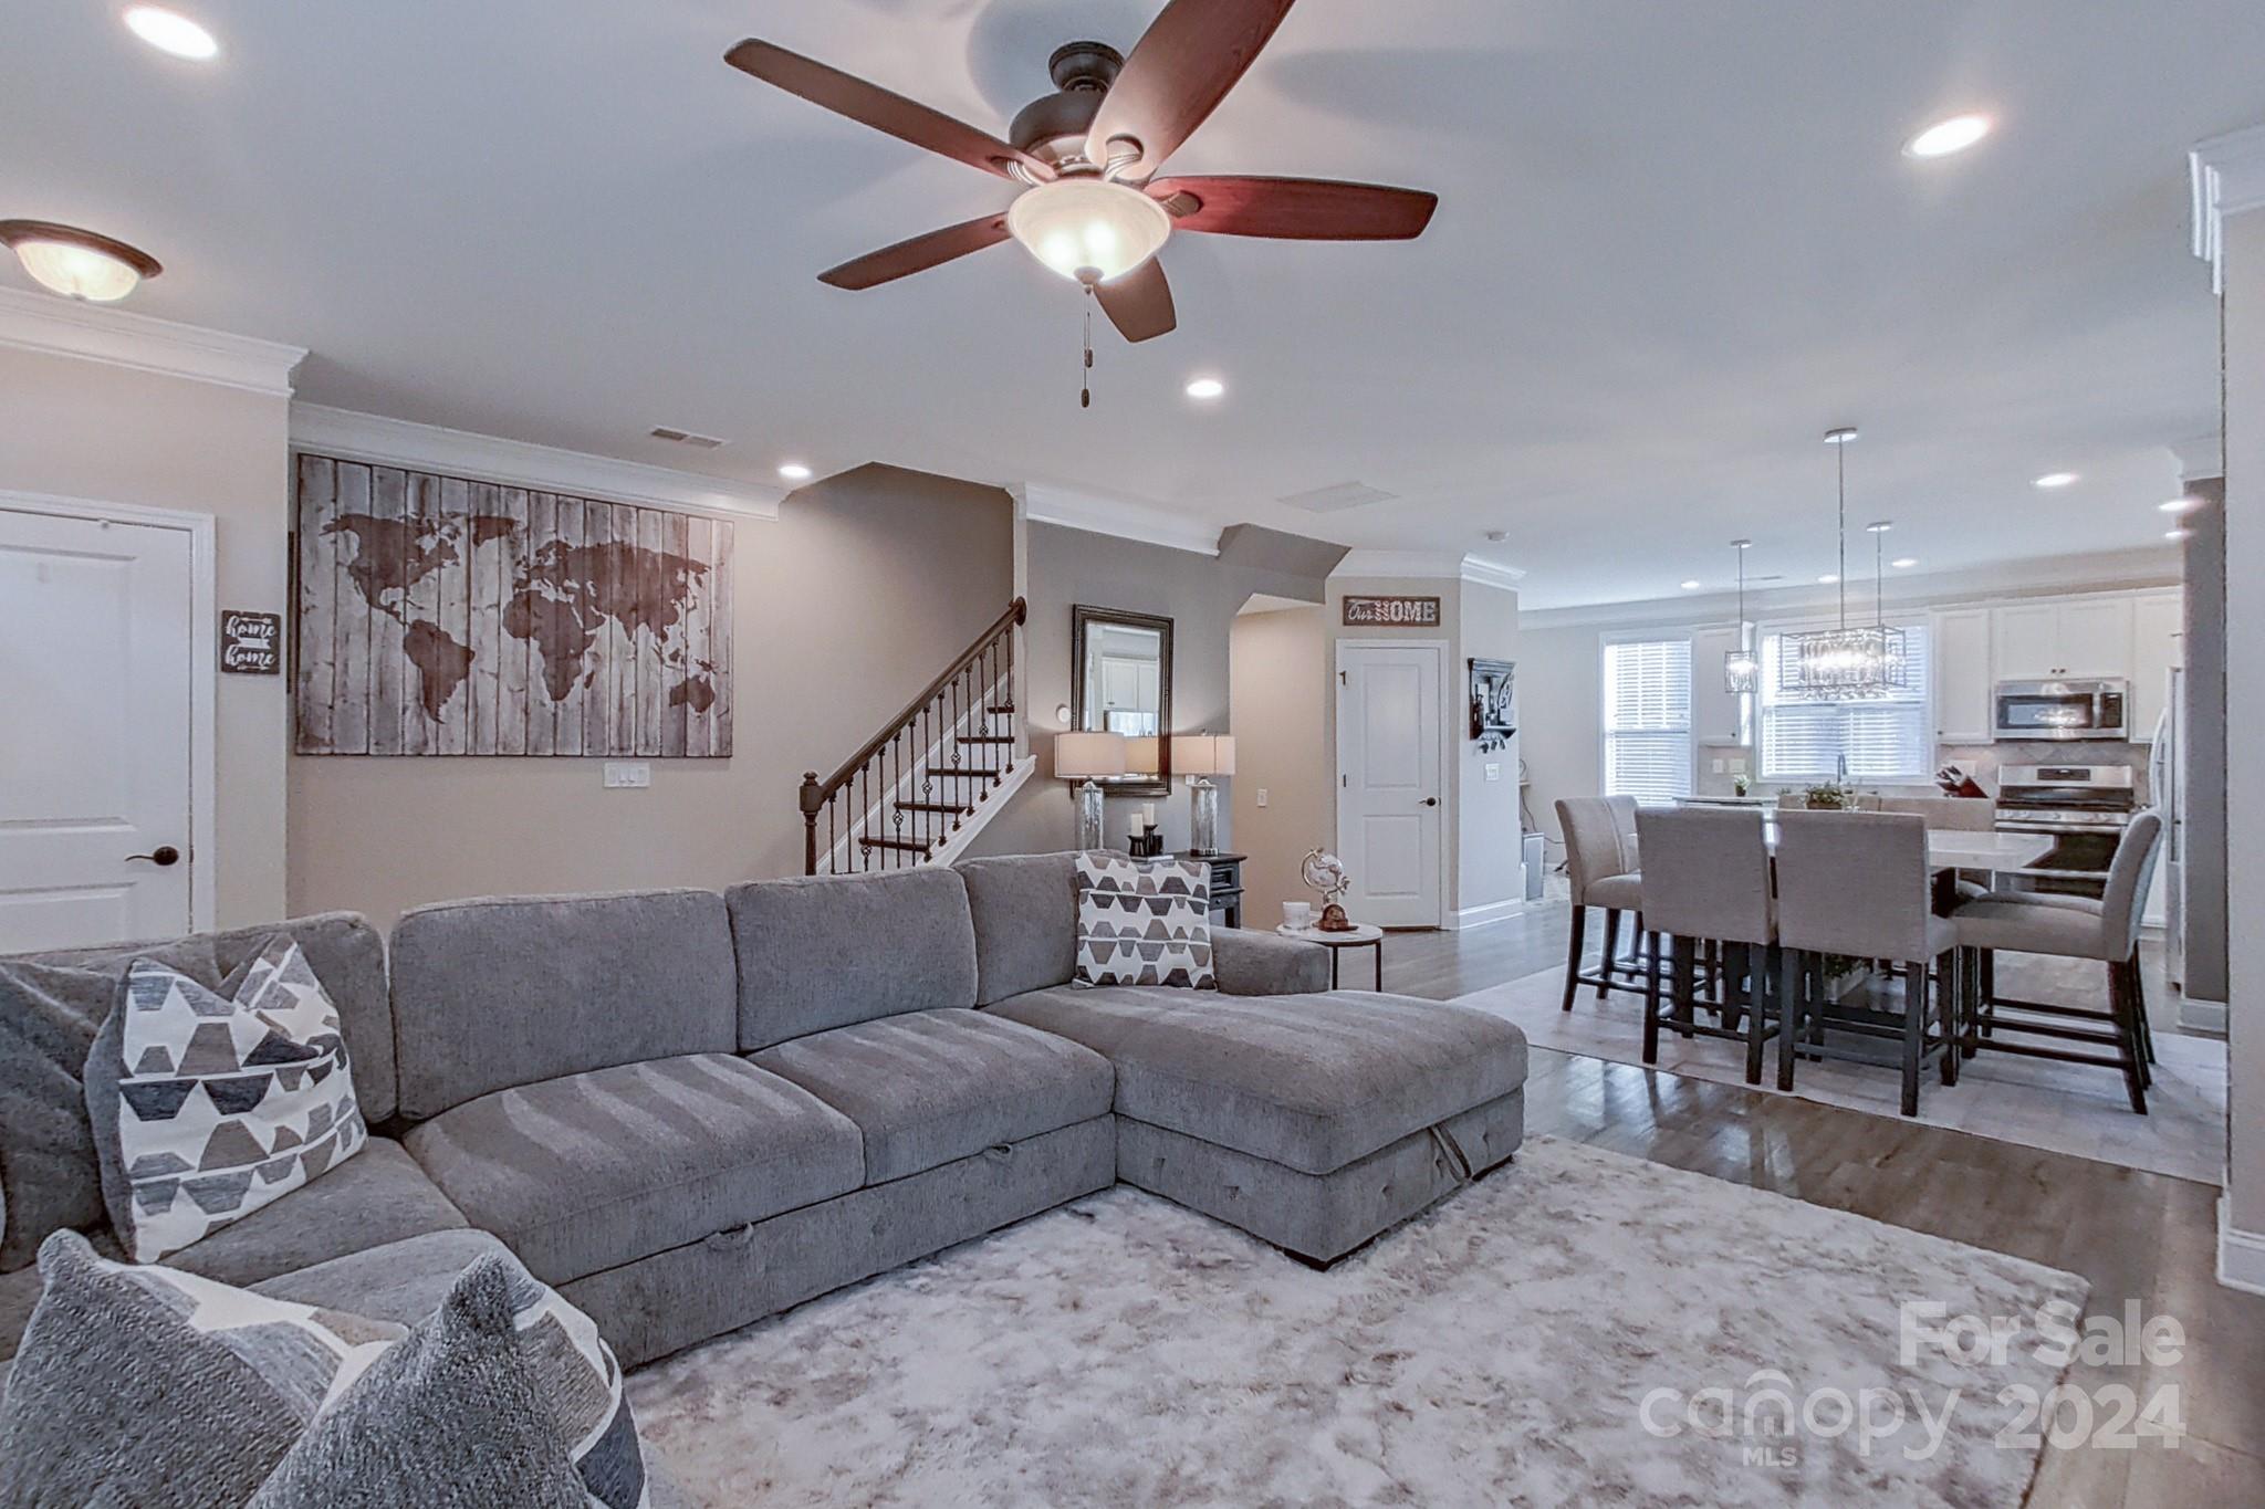
[[[2161,812],[2134,814],[2122,837],[2116,839],[2116,855],[2109,860],[2109,880],[2100,900],[1991,891],[1952,914],[1959,950],[1966,955],[1964,1047],[1968,1054],[1991,1047],[2027,1059],[2118,1068],[2125,1077],[2125,1090],[2131,1095],[2131,1109],[2147,1115],[2147,1086],[2154,1084],[2147,1061],[2154,1057],[2154,1034],[2147,1029],[2147,998],[2138,977],[2138,925],[2147,903],[2147,885],[2154,880],[2154,862],[2163,848],[2161,839]],[[2000,950],[2057,959],[2100,959],[2109,971],[2106,1011],[1998,995],[1995,955]],[[2000,1009],[2020,1016],[2007,1018],[2000,1016]],[[2054,1020],[2032,1020],[2038,1016]],[[2113,1047],[2116,1057],[2045,1043],[2009,1043],[2005,1034]]]

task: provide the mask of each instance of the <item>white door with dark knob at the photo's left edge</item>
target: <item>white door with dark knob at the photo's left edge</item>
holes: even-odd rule
[[[190,932],[188,529],[0,507],[0,952]]]

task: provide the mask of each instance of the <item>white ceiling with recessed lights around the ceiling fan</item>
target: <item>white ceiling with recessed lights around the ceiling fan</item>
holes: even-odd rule
[[[0,0],[0,217],[147,247],[131,308],[310,346],[315,403],[1475,550],[1538,609],[1712,588],[1737,534],[1828,570],[1851,421],[1853,518],[1928,570],[2159,545],[2217,394],[2183,154],[2265,120],[2256,0],[1302,0],[1173,167],[1434,188],[1431,231],[1176,238],[1180,330],[1103,339],[1080,412],[1080,299],[1015,247],[815,281],[1003,183],[720,59],[752,29],[1003,129],[1055,43],[1128,48],[1157,0],[179,5],[220,63]],[[2000,131],[1898,154],[1964,109]],[[2084,484],[2027,486],[2054,468]],[[1273,502],[1348,480],[1400,498]]]

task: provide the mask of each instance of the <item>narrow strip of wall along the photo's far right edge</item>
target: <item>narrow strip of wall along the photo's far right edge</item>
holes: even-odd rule
[[[2224,222],[2226,581],[2265,579],[2265,210]],[[2265,600],[2226,593],[2226,665],[2265,663]],[[2226,676],[2226,1219],[2265,1238],[2265,676]],[[2245,925],[2242,919],[2249,919]]]

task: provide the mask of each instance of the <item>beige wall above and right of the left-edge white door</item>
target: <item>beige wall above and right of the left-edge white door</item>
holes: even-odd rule
[[[0,348],[0,489],[211,514],[215,609],[288,602],[290,403],[215,382]],[[283,676],[215,674],[217,925],[283,914]],[[183,835],[186,842],[188,835]]]

